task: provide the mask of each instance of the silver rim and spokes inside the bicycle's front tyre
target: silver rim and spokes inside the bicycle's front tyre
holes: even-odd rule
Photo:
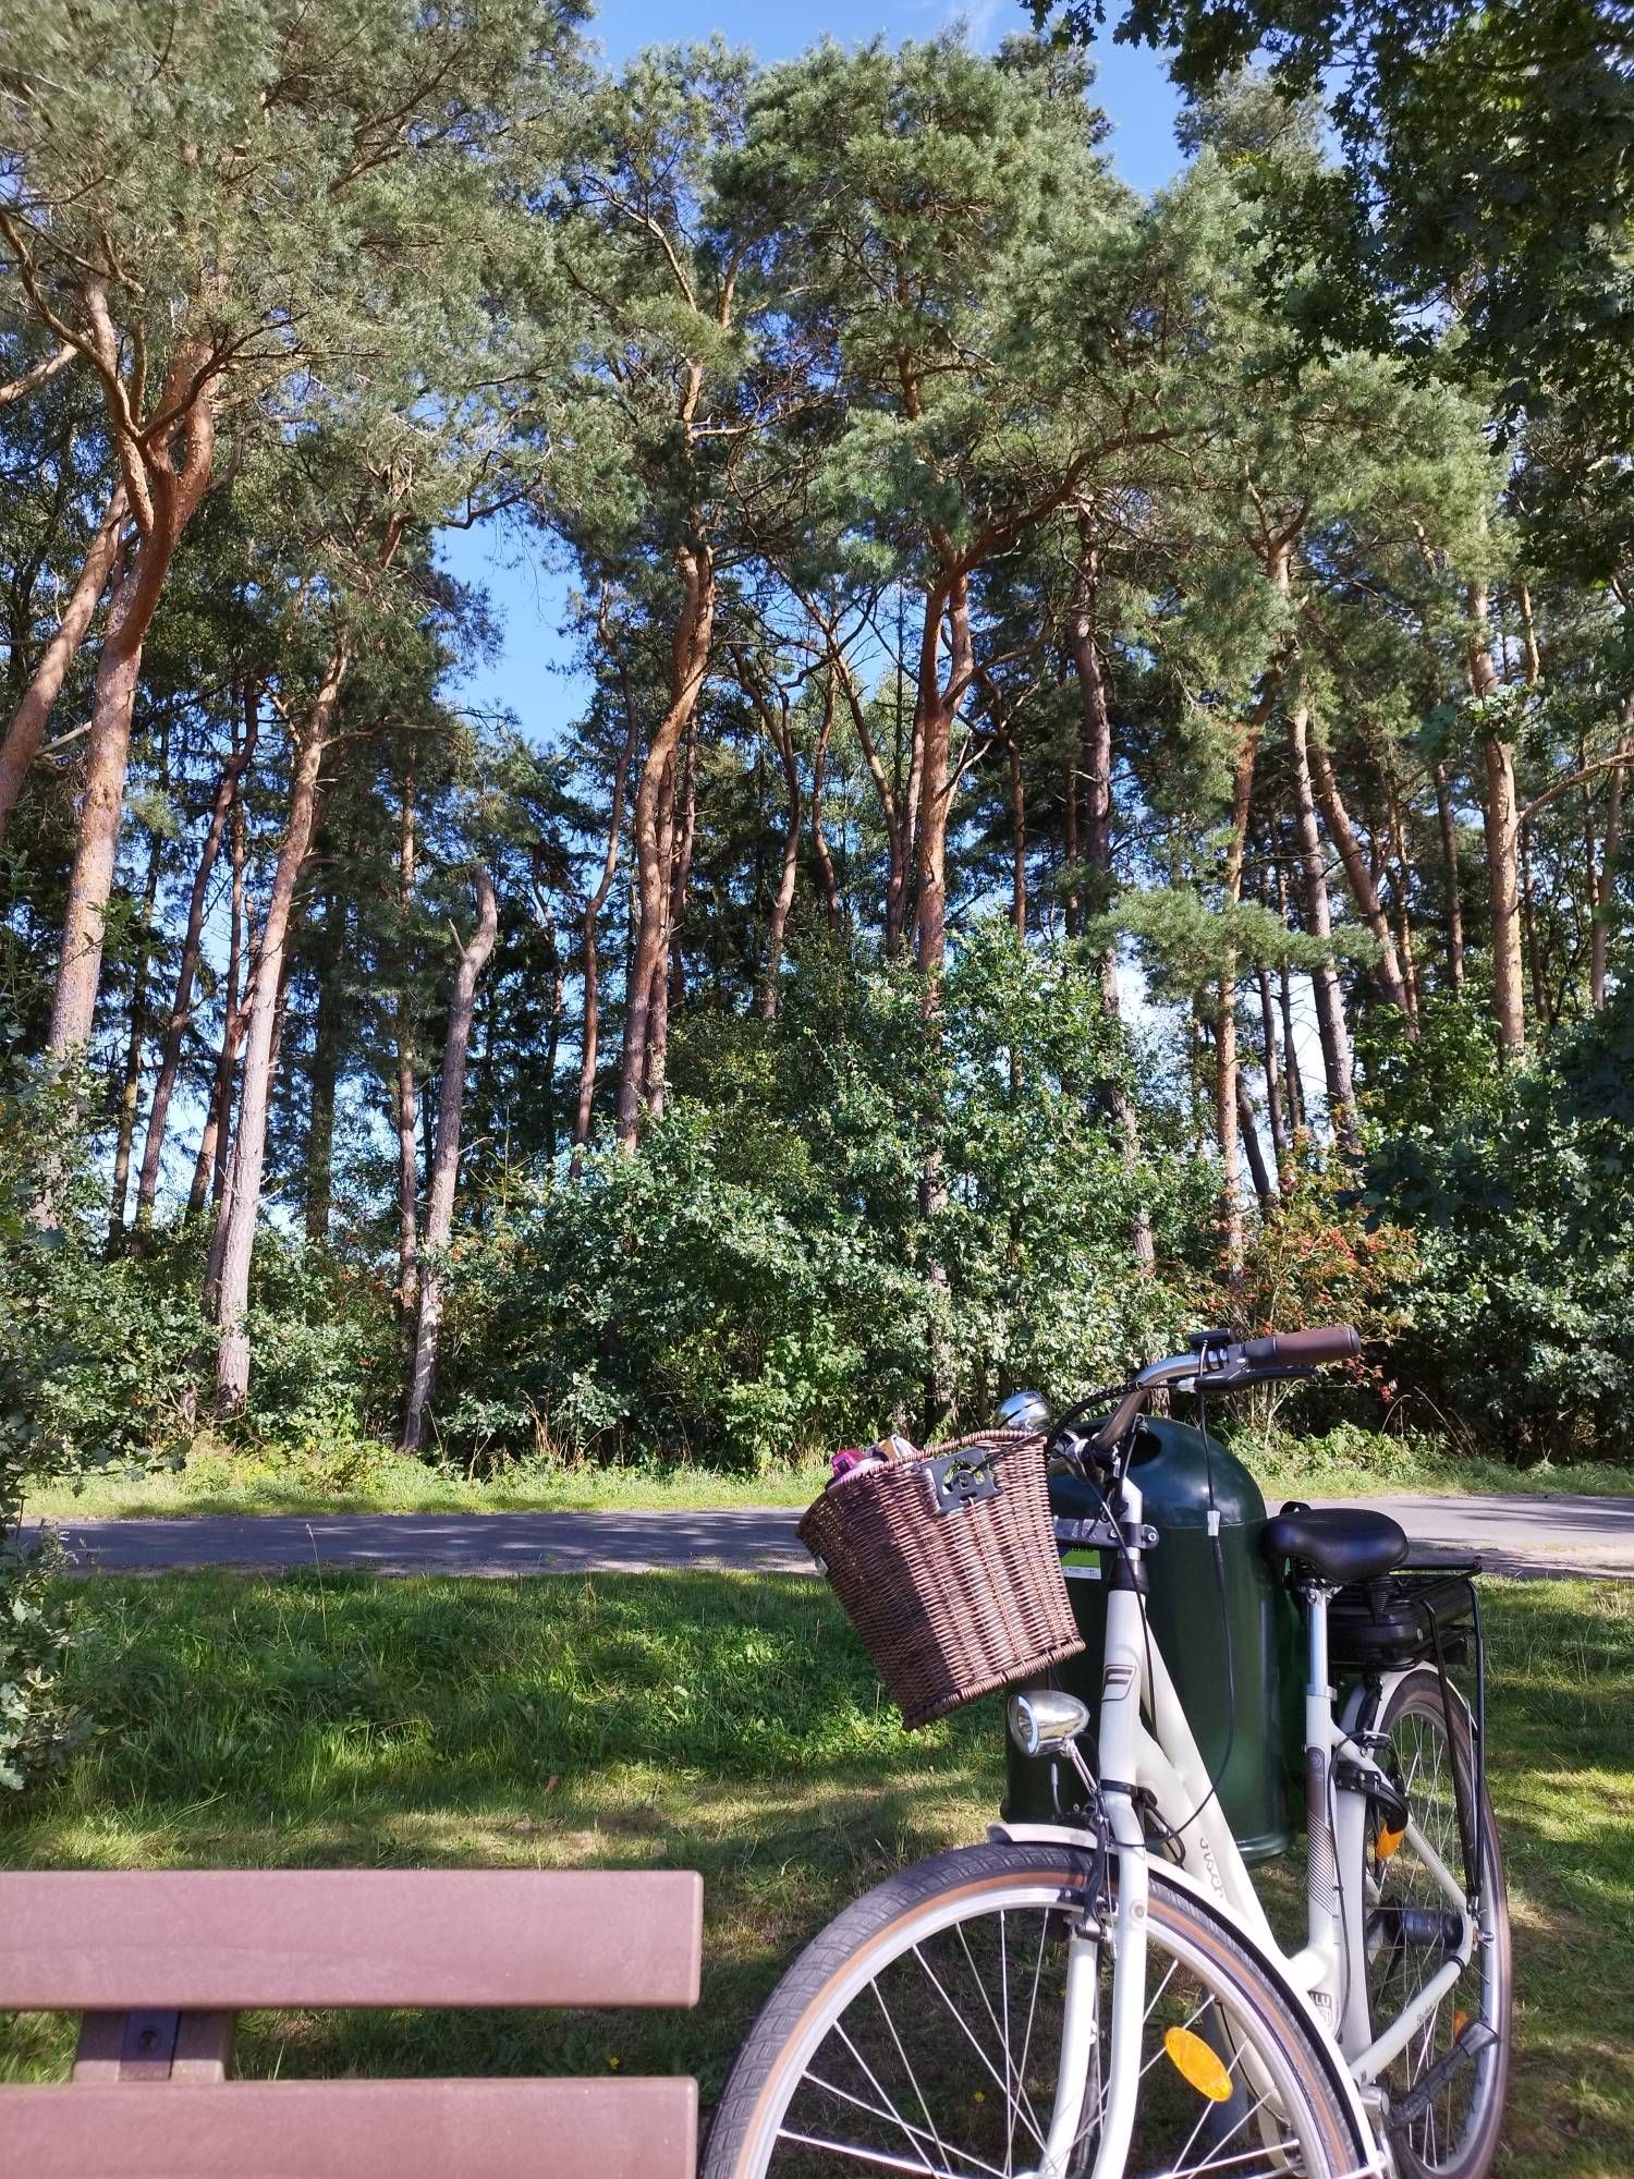
[[[1070,1883],[1070,1880],[1068,1880]],[[909,2172],[1024,2179],[1044,2164],[1059,2074],[1063,1880],[976,1885],[902,1918],[813,2000],[767,2083],[747,2168],[776,2179]],[[1327,2170],[1285,2026],[1168,1918],[1148,1922],[1142,2094],[1126,2172],[1283,2179]],[[1072,2170],[1094,2166],[1105,2114],[1111,1952],[1096,1959],[1096,2037]],[[1166,2035],[1192,2044],[1170,2057]],[[1229,2083],[1211,2101],[1196,2083]]]

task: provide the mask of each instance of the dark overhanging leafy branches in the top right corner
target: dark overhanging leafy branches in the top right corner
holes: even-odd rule
[[[1092,39],[1107,13],[1105,0],[1035,0],[1068,41]],[[1630,495],[1610,453],[1634,418],[1623,0],[1126,0],[1111,13],[1120,39],[1168,52],[1205,109],[1261,63],[1294,115],[1327,107],[1336,163],[1244,161],[1307,351],[1399,346],[1479,388],[1510,425],[1545,423],[1560,475],[1529,495],[1542,556],[1601,575],[1627,564]],[[1458,333],[1438,342],[1442,314]]]

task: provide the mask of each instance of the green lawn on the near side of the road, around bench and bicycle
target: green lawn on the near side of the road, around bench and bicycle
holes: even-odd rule
[[[706,2098],[821,1922],[978,1839],[996,1704],[906,1737],[821,1584],[172,1575],[74,1591],[100,1737],[0,1811],[13,1867],[697,1867],[688,2016],[277,2016],[251,2072],[686,2070]],[[1634,2170],[1634,1586],[1492,1582],[1492,1787],[1521,1994],[1505,2170]],[[0,2020],[0,2077],[70,2031]]]

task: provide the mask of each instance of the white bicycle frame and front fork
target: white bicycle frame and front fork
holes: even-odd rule
[[[1142,1501],[1135,1484],[1122,1486],[1122,1532],[1142,1532]],[[1111,2050],[1107,2064],[1105,2116],[1094,2162],[1094,2179],[1122,2179],[1139,2096],[1139,2048],[1146,2022],[1146,1911],[1148,1837],[1142,1806],[1150,1795],[1157,1815],[1176,1826],[1179,1870],[1198,1898],[1231,1924],[1237,1939],[1259,1957],[1266,1972],[1296,1998],[1312,2026],[1338,2053],[1366,2116],[1368,2133],[1381,2144],[1377,2111],[1368,2111],[1366,2090],[1399,2057],[1412,2035],[1431,2018],[1442,1996],[1468,1965],[1477,1944],[1464,1883],[1455,1876],[1416,1822],[1405,1837],[1449,1909],[1458,1913],[1460,1939],[1442,1968],[1412,1998],[1405,2011],[1373,2033],[1366,2000],[1366,1861],[1368,1787],[1386,1802],[1394,1789],[1366,1748],[1364,1713],[1377,1715],[1370,1687],[1357,1687],[1336,1717],[1329,1680],[1327,1604],[1329,1591],[1307,1588],[1307,1684],[1305,1684],[1305,1787],[1307,1787],[1307,1931],[1298,1952],[1283,1952],[1266,1920],[1259,1894],[1211,1791],[1207,1763],[1198,1752],[1181,1708],[1163,1654],[1150,1634],[1139,1593],[1139,1545],[1120,1554],[1118,1578],[1107,1595],[1107,1647],[1100,1680],[1098,1787],[1111,1843],[1118,1854],[1118,1913],[1111,1928]],[[1405,1673],[1388,1673],[1379,1704],[1390,1700]],[[1002,1835],[1044,1839],[1072,1835],[1065,1826],[1009,1824]],[[1166,1865],[1166,1874],[1172,1870]],[[1074,1937],[1068,1963],[1068,2005],[1059,2098],[1052,2111],[1039,2179],[1063,2179],[1083,2125],[1087,2068],[1098,2029],[1100,1931]],[[1083,1955],[1083,1957],[1078,1957]],[[1381,2144],[1373,2170],[1388,2170]]]

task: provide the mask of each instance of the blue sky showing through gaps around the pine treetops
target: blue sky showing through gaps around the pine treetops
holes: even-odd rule
[[[658,7],[656,0],[603,0],[593,22],[612,65],[651,44],[708,37],[719,31],[734,46],[749,46],[763,61],[802,52],[819,37],[841,44],[885,35],[891,41],[932,37],[959,17],[974,46],[991,50],[1028,28],[1017,0],[826,0],[821,7],[754,7],[752,0],[693,0]],[[1129,46],[1100,44],[1096,98],[1113,122],[1111,157],[1135,190],[1157,190],[1179,166],[1174,118],[1179,100],[1163,63]],[[473,529],[444,538],[444,562],[492,599],[501,630],[499,656],[460,686],[460,699],[479,708],[508,708],[529,741],[551,741],[580,699],[575,678],[562,671],[558,638],[564,584],[542,564],[542,551],[503,534]]]

